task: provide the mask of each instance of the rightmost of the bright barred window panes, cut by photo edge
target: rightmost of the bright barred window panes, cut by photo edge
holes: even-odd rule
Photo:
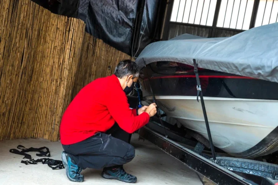
[[[278,0],[260,0],[255,27],[278,22]]]

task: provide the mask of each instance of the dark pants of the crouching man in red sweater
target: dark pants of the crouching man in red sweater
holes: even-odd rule
[[[131,134],[115,123],[106,133],[97,133],[84,141],[63,145],[63,148],[82,169],[116,168],[135,156],[134,147],[128,143],[130,137]]]

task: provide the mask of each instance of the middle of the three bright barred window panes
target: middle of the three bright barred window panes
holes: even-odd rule
[[[222,0],[217,27],[248,30],[254,0]]]

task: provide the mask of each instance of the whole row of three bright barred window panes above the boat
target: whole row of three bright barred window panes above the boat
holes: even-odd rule
[[[171,22],[213,26],[219,0],[174,0]],[[248,30],[255,0],[221,0],[216,27]],[[278,22],[278,0],[260,0],[255,27]],[[255,18],[254,18],[255,19]]]

